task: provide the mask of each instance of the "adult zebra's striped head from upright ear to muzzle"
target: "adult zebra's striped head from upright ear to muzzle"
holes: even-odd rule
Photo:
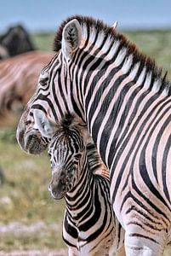
[[[69,40],[68,33],[71,34]],[[40,73],[37,90],[30,102],[27,103],[17,128],[18,143],[26,153],[39,154],[48,145],[47,140],[41,137],[40,132],[37,131],[37,124],[33,115],[34,109],[41,109],[47,118],[52,119],[54,123],[58,122],[66,113],[76,113],[74,106],[77,106],[77,97],[73,97],[72,93],[68,94],[66,91],[66,87],[71,88],[71,81],[66,79],[68,68],[66,64],[80,44],[81,33],[81,26],[77,20],[72,20],[71,23],[66,24],[63,39],[60,42],[62,46],[60,45],[57,54]],[[82,112],[77,108],[77,115],[83,117],[83,106],[81,109]]]

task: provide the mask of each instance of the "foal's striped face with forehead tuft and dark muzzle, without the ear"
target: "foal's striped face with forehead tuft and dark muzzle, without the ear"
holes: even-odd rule
[[[73,117],[67,116],[48,147],[52,169],[49,191],[54,199],[62,198],[77,185],[85,159],[85,147],[82,129]]]

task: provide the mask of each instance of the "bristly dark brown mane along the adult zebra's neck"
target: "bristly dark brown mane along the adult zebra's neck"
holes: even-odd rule
[[[88,31],[91,27],[94,27],[97,33],[103,31],[105,35],[108,35],[111,38],[111,40],[113,40],[113,43],[114,41],[119,41],[119,49],[127,49],[126,57],[128,57],[129,55],[133,56],[133,61],[130,69],[132,70],[136,63],[139,62],[140,67],[146,68],[146,74],[151,73],[151,81],[154,82],[158,80],[160,82],[158,92],[162,93],[162,90],[166,90],[166,95],[171,95],[171,84],[166,78],[167,72],[162,76],[162,68],[158,68],[154,60],[152,60],[147,55],[140,53],[140,51],[136,48],[135,44],[130,43],[128,41],[128,38],[124,37],[123,34],[117,32],[115,29],[113,29],[112,26],[106,25],[102,20],[96,20],[92,17],[81,15],[73,15],[67,18],[60,24],[60,27],[58,28],[56,35],[54,37],[54,51],[59,51],[61,49],[63,29],[66,26],[66,24],[73,19],[77,19],[81,26],[86,25],[88,27]],[[142,71],[141,68],[140,70]],[[149,89],[151,90],[151,88]]]

